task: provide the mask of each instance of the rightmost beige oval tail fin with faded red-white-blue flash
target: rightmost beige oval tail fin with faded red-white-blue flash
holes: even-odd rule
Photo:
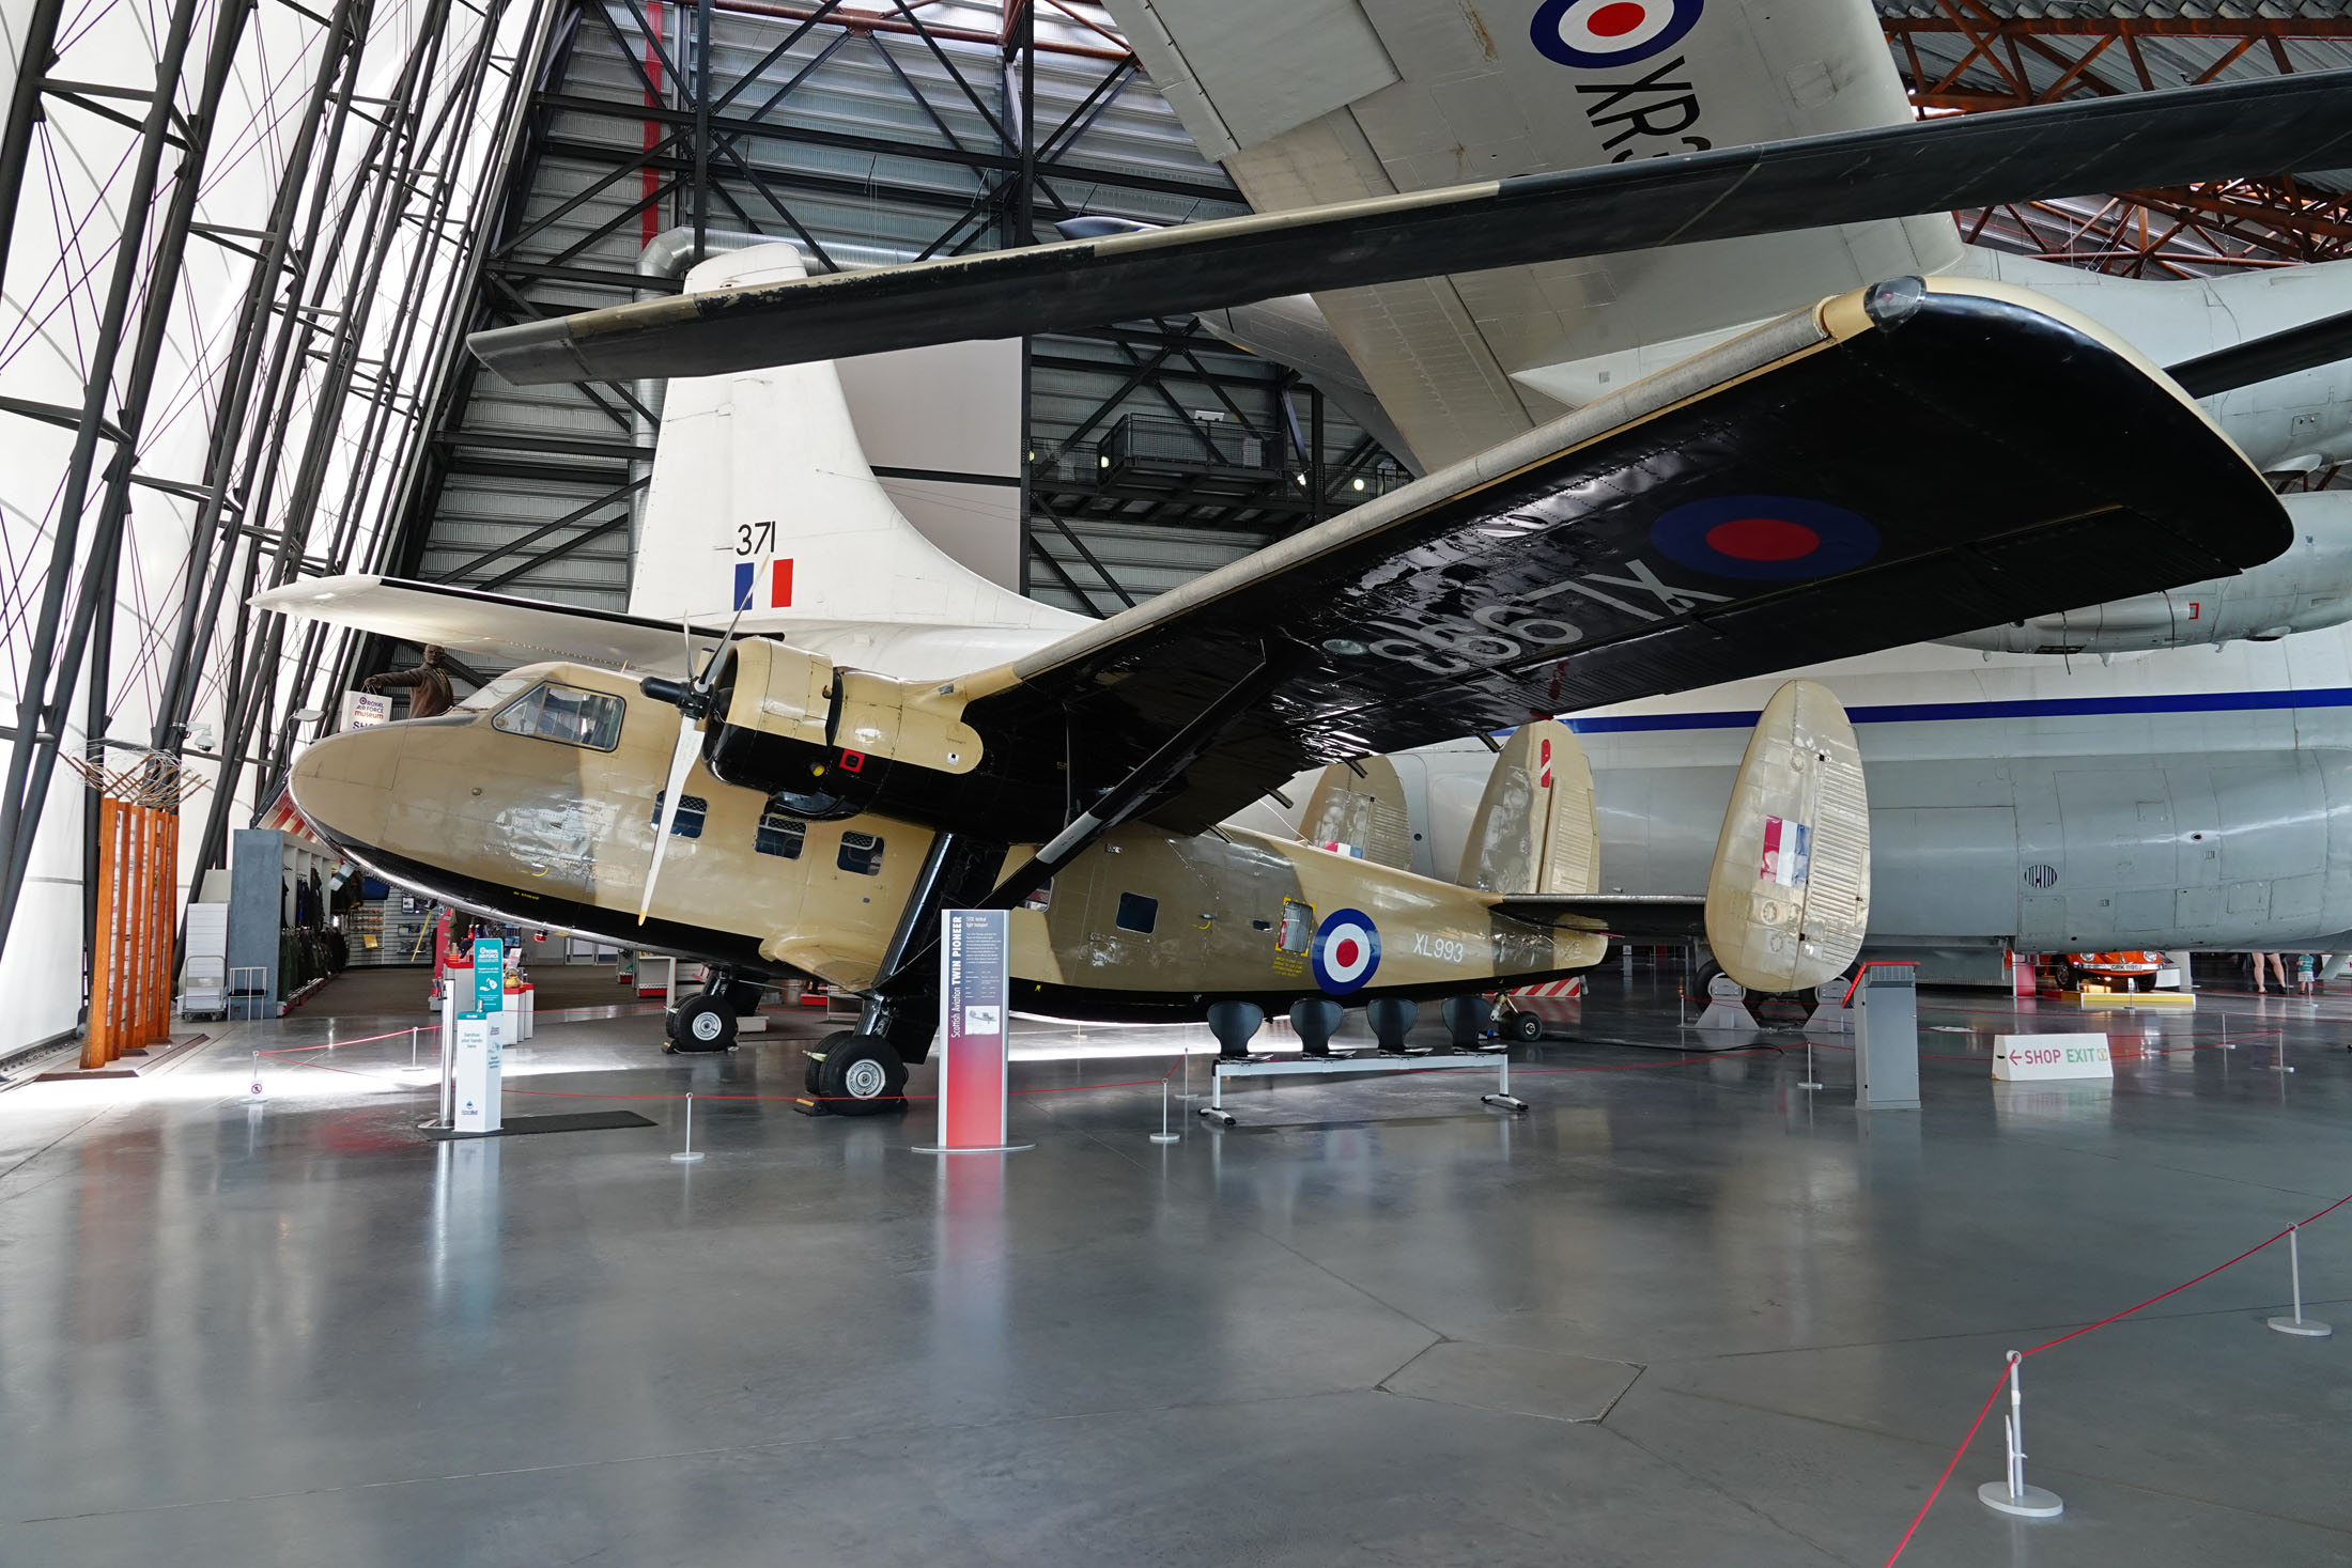
[[[1846,710],[1788,682],[1757,719],[1708,877],[1708,945],[1757,992],[1844,973],[1870,924],[1870,799]]]

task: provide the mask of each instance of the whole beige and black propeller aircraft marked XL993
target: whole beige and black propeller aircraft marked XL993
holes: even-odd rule
[[[880,675],[748,635],[680,677],[529,665],[459,715],[320,741],[292,783],[353,858],[454,903],[861,992],[811,1093],[880,1110],[929,1051],[946,907],[1014,912],[1028,1011],[1209,1018],[1240,1048],[1289,1009],[1319,1046],[1348,999],[1395,1044],[1416,999],[1693,926],[1693,900],[1592,891],[1590,785],[1548,715],[2049,614],[2093,571],[2117,592],[2225,576],[2286,543],[2263,477],[2096,324],[1910,277],[1110,621],[995,625],[983,646],[1025,644],[1007,663]],[[604,621],[616,646],[659,630]],[[1308,769],[1512,729],[1463,856],[1479,886],[1230,820]],[[1785,992],[1851,961],[1865,823],[1844,715],[1785,689],[1705,898],[1733,978]],[[670,837],[696,853],[663,865]],[[680,1032],[722,1032],[727,1001]]]

